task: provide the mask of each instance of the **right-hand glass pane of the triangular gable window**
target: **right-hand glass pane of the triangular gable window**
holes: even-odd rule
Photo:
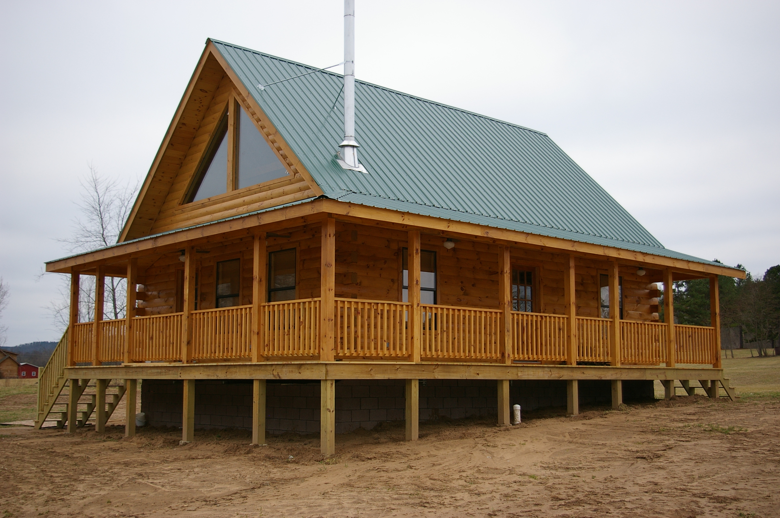
[[[243,189],[250,185],[261,184],[264,181],[285,176],[287,170],[275,153],[271,151],[252,119],[246,115],[243,108],[239,108],[238,112],[236,189]]]

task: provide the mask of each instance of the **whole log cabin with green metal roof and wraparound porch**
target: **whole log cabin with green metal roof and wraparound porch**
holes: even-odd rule
[[[183,442],[320,432],[325,455],[360,426],[405,421],[415,440],[420,419],[577,414],[654,380],[733,397],[718,275],[742,270],[665,248],[546,134],[346,61],[342,76],[207,40],[118,242],[46,263],[71,305],[38,428],[94,414],[101,432],[125,396],[133,435],[139,379],[150,424]],[[105,277],[126,279],[126,318],[104,319]],[[675,324],[672,281],[700,278],[711,326]]]

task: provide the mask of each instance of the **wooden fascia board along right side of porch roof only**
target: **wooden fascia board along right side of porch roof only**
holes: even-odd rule
[[[594,245],[592,243],[571,241],[563,238],[551,238],[540,234],[529,234],[527,232],[488,227],[480,224],[465,223],[463,221],[445,220],[438,217],[420,216],[419,214],[339,202],[332,199],[324,199],[323,201],[325,202],[324,210],[327,212],[360,217],[365,220],[374,220],[378,223],[392,222],[411,228],[419,227],[421,229],[434,229],[443,232],[449,231],[465,234],[467,236],[479,236],[481,238],[493,239],[497,244],[502,245],[517,245],[521,248],[523,245],[532,245],[543,247],[548,252],[590,255],[594,258],[600,258],[601,260],[605,260],[606,257],[608,259],[618,260],[622,264],[663,266],[665,268],[672,268],[672,270],[678,270],[681,273],[700,272],[725,275],[727,277],[738,277],[740,279],[744,279],[746,275],[743,270],[729,268],[728,266],[696,263],[684,259],[665,257],[664,255],[634,252],[633,250],[626,250],[623,248]]]

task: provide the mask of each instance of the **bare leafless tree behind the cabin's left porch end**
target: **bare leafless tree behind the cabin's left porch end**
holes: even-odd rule
[[[97,248],[114,245],[122,233],[122,227],[133,207],[138,183],[106,178],[90,164],[90,172],[82,181],[81,199],[76,205],[80,217],[73,222],[73,235],[59,239],[66,243],[69,252],[89,252]],[[82,277],[79,295],[79,321],[94,319],[95,278]],[[61,297],[48,309],[59,329],[68,326],[69,283],[66,280],[59,289]],[[121,319],[125,316],[126,283],[117,277],[107,277],[105,281],[104,318]]]

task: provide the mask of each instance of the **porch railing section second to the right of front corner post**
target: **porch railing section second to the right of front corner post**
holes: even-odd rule
[[[450,360],[500,358],[497,309],[421,305],[420,357]]]

